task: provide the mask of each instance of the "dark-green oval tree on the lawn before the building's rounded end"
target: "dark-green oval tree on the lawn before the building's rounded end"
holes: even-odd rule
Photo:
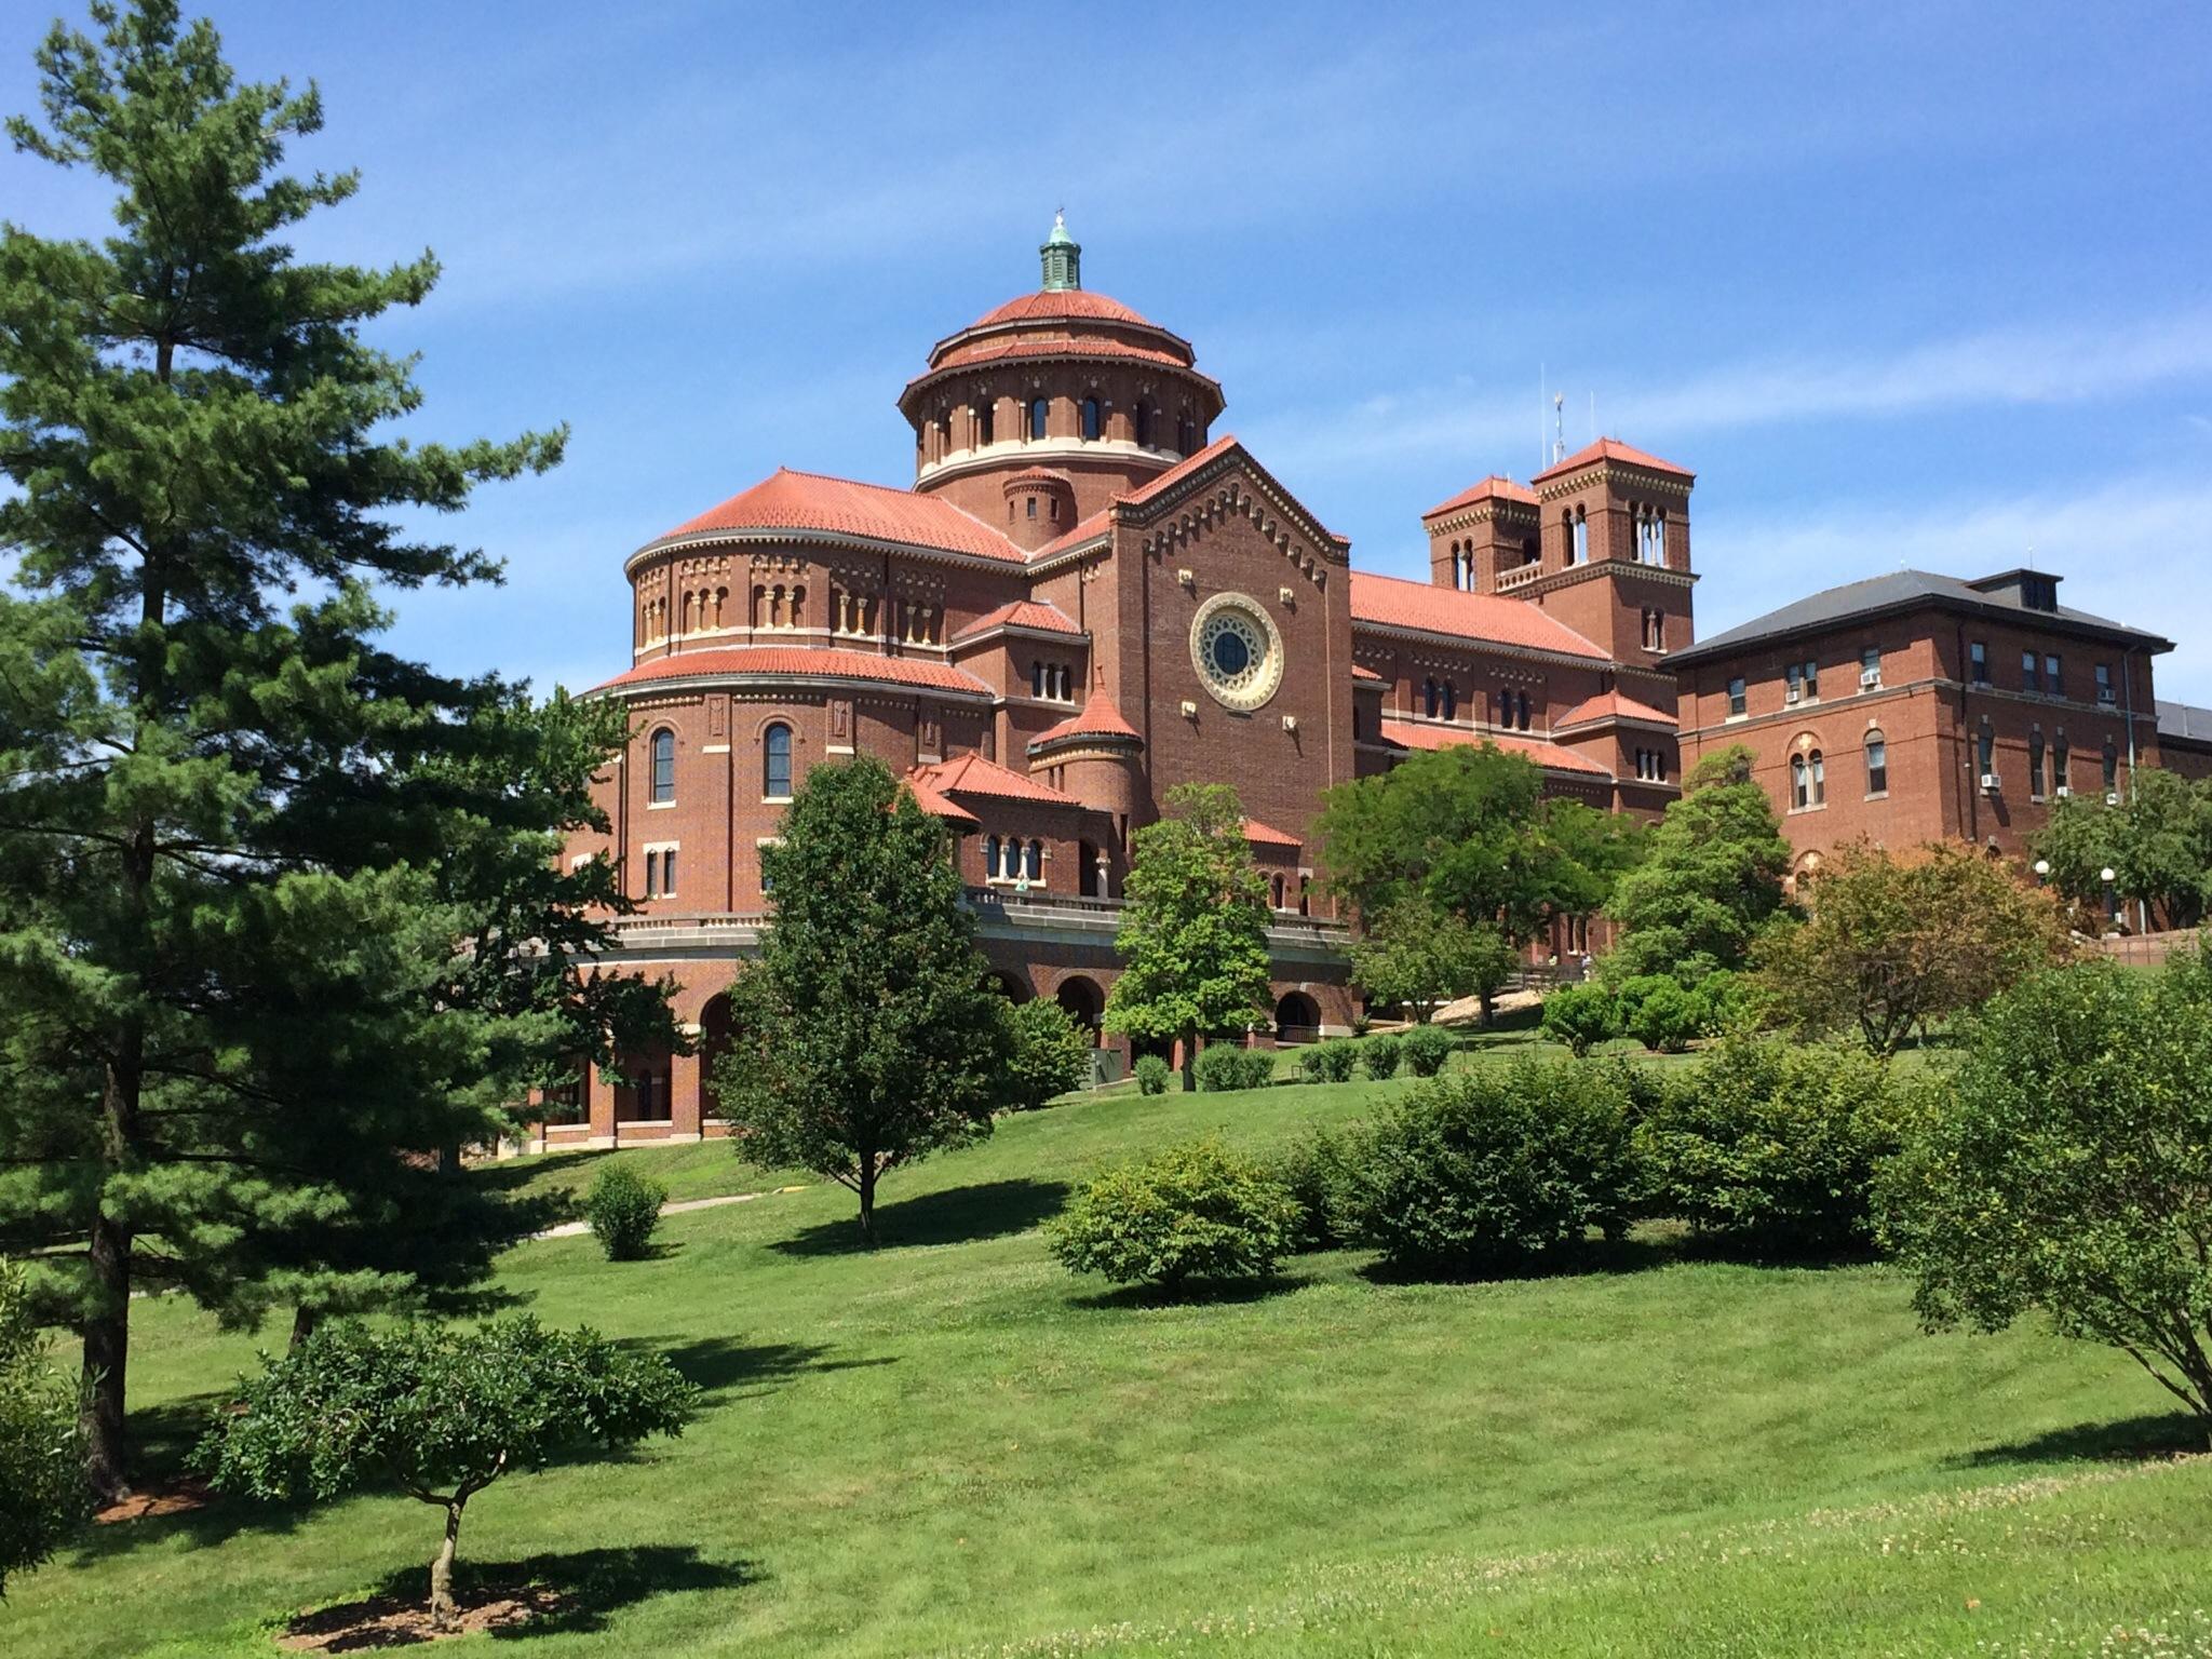
[[[732,987],[714,1093],[759,1168],[876,1183],[991,1133],[1013,1040],[945,827],[876,759],[816,765],[761,849],[774,916]]]

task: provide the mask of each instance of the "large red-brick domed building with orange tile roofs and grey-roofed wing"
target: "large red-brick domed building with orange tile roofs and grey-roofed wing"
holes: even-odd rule
[[[1900,571],[1692,644],[1692,473],[1613,438],[1422,513],[1429,582],[1354,571],[1217,434],[1190,343],[1086,290],[1064,226],[1040,254],[1037,292],[900,392],[911,489],[781,469],[624,566],[630,664],[593,695],[633,741],[613,834],[568,852],[622,863],[641,911],[615,962],[675,980],[699,1053],[591,1068],[549,1097],[549,1144],[719,1133],[703,1079],[768,911],[759,847],[841,757],[953,832],[1006,993],[1093,1031],[1130,834],[1172,785],[1232,783],[1274,898],[1263,1042],[1349,1029],[1314,818],[1411,750],[1498,743],[1553,794],[1657,816],[1743,743],[1801,872],[1854,836],[2013,854],[2062,792],[2212,774],[2212,710],[2152,695],[2172,646],[2059,606],[2053,575]],[[1557,918],[1540,949],[1590,942]]]

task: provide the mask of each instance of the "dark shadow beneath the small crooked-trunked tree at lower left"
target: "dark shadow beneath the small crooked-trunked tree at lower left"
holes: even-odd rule
[[[453,1566],[456,1601],[469,1604],[511,1595],[538,1610],[515,1624],[491,1626],[493,1641],[591,1635],[613,1615],[657,1595],[737,1590],[761,1582],[752,1562],[712,1562],[692,1544],[626,1544],[560,1555],[529,1555],[520,1562],[471,1562],[462,1553]],[[427,1646],[418,1626],[372,1624],[394,1608],[416,1608],[429,1599],[429,1568],[403,1566],[385,1573],[365,1597],[316,1608],[292,1619],[294,1635],[321,1635],[321,1652],[367,1652],[374,1648]]]

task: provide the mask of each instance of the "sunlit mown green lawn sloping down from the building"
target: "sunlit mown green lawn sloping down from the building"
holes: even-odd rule
[[[515,1475],[462,1564],[573,1590],[533,1655],[2212,1652],[2212,1460],[2124,1358],[2037,1329],[1927,1338],[1882,1267],[1697,1261],[1150,1303],[1035,1225],[1082,1170],[1219,1128],[1265,1146],[1411,1084],[1137,1097],[1000,1126],[894,1177],[891,1245],[810,1186],[664,1225],[661,1259],[518,1248],[553,1323],[706,1385],[677,1442]],[[679,1197],[776,1186],[723,1146],[619,1152]],[[509,1166],[573,1183],[597,1159]],[[173,1442],[250,1363],[177,1301],[135,1325]],[[9,1655],[270,1652],[268,1624],[405,1575],[403,1500],[219,1504],[100,1528],[11,1586]],[[478,1637],[460,1646],[482,1646]]]

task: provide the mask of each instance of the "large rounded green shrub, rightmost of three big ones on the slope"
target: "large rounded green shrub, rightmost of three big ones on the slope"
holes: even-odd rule
[[[1902,1104],[1863,1051],[1730,1033],[1637,1126],[1652,1206],[1739,1248],[1818,1254],[1869,1232]]]

